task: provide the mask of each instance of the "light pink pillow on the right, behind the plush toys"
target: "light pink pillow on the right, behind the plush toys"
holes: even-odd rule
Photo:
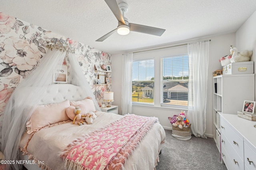
[[[95,106],[94,106],[94,102],[92,101],[92,99],[84,99],[84,100],[80,100],[80,101],[70,101],[70,105],[71,106],[78,106],[81,109],[81,115],[85,115],[86,113],[89,113],[90,111],[96,111]]]

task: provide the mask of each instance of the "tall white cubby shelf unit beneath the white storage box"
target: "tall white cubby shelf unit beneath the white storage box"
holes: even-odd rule
[[[255,101],[254,88],[254,74],[218,75],[213,77],[213,137],[220,152],[220,115],[237,115],[237,111],[242,111],[244,100]]]

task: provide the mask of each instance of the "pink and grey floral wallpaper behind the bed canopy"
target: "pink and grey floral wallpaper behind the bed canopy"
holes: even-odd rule
[[[68,42],[99,105],[103,103],[103,92],[107,87],[94,86],[97,79],[94,65],[110,65],[111,55],[0,12],[0,118],[14,89],[49,50],[47,42]],[[64,63],[68,65],[68,59]]]

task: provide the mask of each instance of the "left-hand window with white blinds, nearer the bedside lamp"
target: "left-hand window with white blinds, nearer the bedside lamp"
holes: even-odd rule
[[[154,104],[154,59],[132,63],[132,103]]]

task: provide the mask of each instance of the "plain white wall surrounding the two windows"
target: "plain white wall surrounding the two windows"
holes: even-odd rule
[[[184,44],[188,42],[196,42],[201,40],[211,40],[210,42],[210,59],[209,59],[209,72],[208,72],[208,90],[207,90],[207,107],[206,107],[206,135],[213,137],[213,110],[212,110],[212,72],[218,69],[222,69],[219,63],[220,57],[228,55],[230,53],[230,45],[235,45],[235,33],[211,36],[207,38],[200,38],[197,40],[186,40],[179,43],[165,44],[158,47],[166,47],[178,44]],[[154,49],[157,47],[149,47],[147,49]],[[137,49],[130,52],[142,51],[142,49]],[[122,114],[121,110],[121,99],[122,99],[122,53],[112,54],[112,91],[114,91],[114,103],[113,105],[118,105],[119,114]],[[133,113],[142,116],[155,116],[158,117],[161,125],[170,129],[171,124],[168,117],[177,115],[182,109],[170,109],[161,107],[150,107],[150,106],[136,106],[133,105]]]

